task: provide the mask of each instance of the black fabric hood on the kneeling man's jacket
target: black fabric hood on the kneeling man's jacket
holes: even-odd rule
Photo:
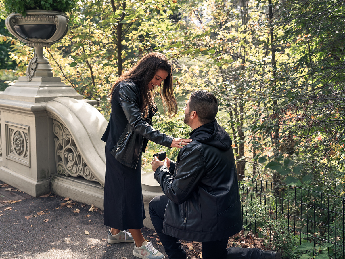
[[[233,144],[229,134],[218,124],[217,120],[196,128],[189,135],[192,140],[197,140],[221,150],[229,150]]]

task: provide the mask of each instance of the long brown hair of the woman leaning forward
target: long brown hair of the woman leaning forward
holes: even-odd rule
[[[119,83],[124,80],[131,80],[139,87],[141,96],[141,103],[139,104],[139,106],[141,112],[146,118],[149,113],[149,105],[151,105],[152,107],[156,107],[156,103],[154,100],[155,92],[153,89],[149,90],[147,86],[152,78],[156,75],[158,69],[162,69],[168,72],[167,78],[164,79],[161,86],[159,87],[159,94],[160,98],[162,99],[164,111],[167,108],[169,118],[174,117],[177,113],[177,103],[172,88],[172,66],[167,57],[158,52],[146,54],[134,67],[123,73],[117,79],[117,81],[110,89],[109,102],[111,103],[112,94],[114,93],[114,89],[119,85]]]

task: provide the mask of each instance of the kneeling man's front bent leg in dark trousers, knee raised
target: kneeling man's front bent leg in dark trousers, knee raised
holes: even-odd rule
[[[186,259],[185,250],[181,247],[178,238],[164,234],[163,221],[165,208],[168,204],[168,197],[165,195],[156,196],[149,204],[149,212],[153,226],[162,242],[169,259]]]

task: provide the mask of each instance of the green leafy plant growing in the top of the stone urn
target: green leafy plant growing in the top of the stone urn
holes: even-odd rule
[[[26,10],[71,12],[78,3],[78,0],[10,0],[4,2],[4,7],[8,13],[21,13],[25,17]]]

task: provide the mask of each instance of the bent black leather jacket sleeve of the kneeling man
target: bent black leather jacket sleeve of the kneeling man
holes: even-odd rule
[[[175,177],[166,166],[158,167],[154,177],[164,194],[173,202],[181,204],[193,193],[204,172],[205,166],[199,150],[185,147],[180,151]]]

